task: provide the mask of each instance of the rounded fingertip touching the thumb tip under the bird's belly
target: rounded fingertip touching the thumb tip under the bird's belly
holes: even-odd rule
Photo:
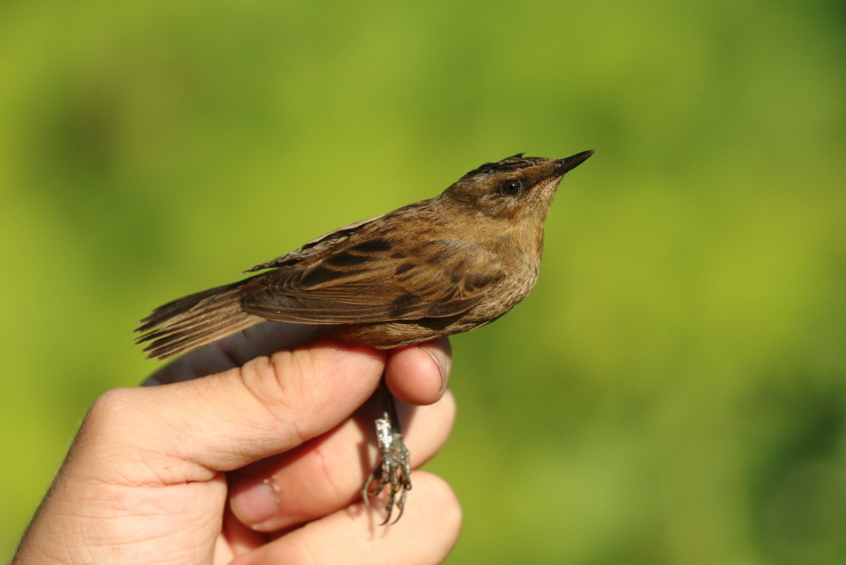
[[[446,337],[392,351],[385,379],[393,395],[409,404],[431,404],[447,390],[453,366]]]

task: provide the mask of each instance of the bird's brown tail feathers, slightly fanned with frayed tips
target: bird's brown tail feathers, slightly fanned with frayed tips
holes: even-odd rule
[[[241,310],[244,283],[255,277],[190,294],[159,306],[138,322],[135,343],[148,359],[168,359],[264,321]]]

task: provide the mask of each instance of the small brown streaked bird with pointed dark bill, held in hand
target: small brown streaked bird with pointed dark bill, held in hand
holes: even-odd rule
[[[166,359],[266,320],[324,325],[331,337],[375,348],[484,326],[535,286],[552,196],[591,155],[520,153],[485,163],[435,198],[336,229],[245,271],[265,272],[160,306],[140,321],[137,341],[149,357]],[[394,503],[402,515],[411,483],[389,394],[385,412],[376,420],[382,465],[362,496],[367,502],[390,483],[387,522]]]

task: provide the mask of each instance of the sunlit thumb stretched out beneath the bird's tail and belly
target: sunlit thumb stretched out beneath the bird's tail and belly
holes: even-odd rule
[[[120,473],[143,480],[207,480],[331,430],[376,389],[386,354],[317,343],[243,367],[167,387],[117,389],[91,409],[81,432]],[[114,457],[109,445],[144,453],[143,464]],[[85,442],[83,442],[85,443]],[[97,460],[96,453],[93,460]],[[138,458],[133,458],[137,461]],[[157,474],[158,470],[158,474]]]

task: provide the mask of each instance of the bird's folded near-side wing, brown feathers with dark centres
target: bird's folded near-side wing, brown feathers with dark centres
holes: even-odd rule
[[[260,277],[244,311],[312,324],[447,317],[491,293],[505,268],[489,250],[461,239],[350,239],[318,261]],[[257,281],[258,282],[258,281]]]

